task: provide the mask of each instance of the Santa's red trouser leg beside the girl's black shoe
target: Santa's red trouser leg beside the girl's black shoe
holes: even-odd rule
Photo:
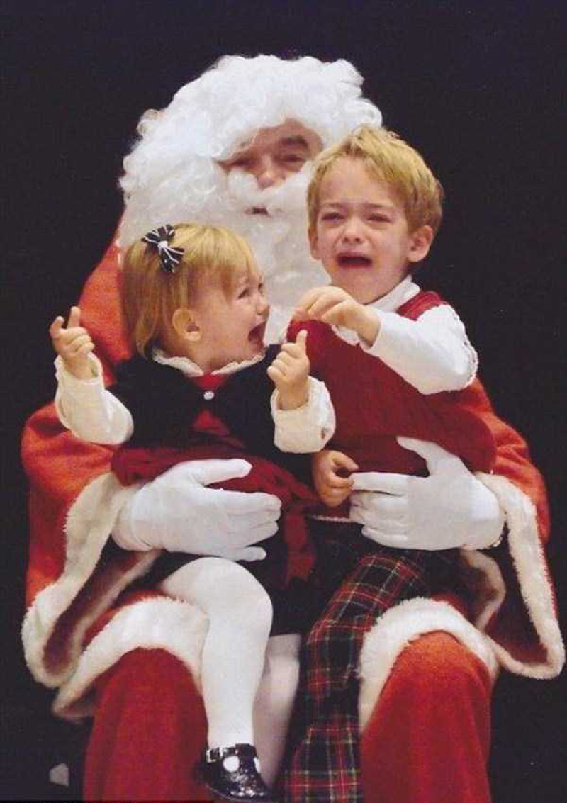
[[[96,683],[84,799],[210,801],[194,768],[206,741],[190,673],[165,650],[127,653]]]

